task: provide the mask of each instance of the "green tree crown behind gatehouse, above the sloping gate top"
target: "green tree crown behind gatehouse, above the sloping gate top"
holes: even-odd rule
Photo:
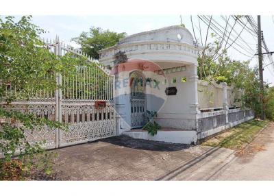
[[[79,37],[72,40],[82,47],[82,51],[94,59],[99,59],[99,50],[112,47],[125,38],[125,33],[110,32],[99,27],[91,27],[89,32],[82,32]]]

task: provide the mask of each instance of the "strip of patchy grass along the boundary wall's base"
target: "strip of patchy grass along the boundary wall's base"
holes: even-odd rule
[[[269,121],[250,120],[237,125],[214,138],[210,138],[210,140],[207,140],[201,145],[239,150],[245,145],[251,143],[258,132],[260,132],[260,130],[262,130],[262,128],[268,123]]]

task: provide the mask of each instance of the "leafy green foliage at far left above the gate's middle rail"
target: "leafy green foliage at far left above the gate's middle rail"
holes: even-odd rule
[[[39,38],[45,31],[30,23],[31,18],[23,16],[17,23],[12,16],[0,19],[0,101],[18,98],[14,89],[6,94],[7,86],[16,86],[26,99],[31,90],[55,88],[54,78],[44,75],[60,71],[61,64]]]

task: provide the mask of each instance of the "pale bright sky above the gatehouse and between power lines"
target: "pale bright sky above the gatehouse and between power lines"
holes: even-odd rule
[[[257,16],[253,16],[253,18],[257,21]],[[184,25],[186,25],[190,32],[192,32],[190,16],[182,16],[182,19]],[[219,24],[225,26],[225,21],[221,19],[221,16],[213,16],[213,19]],[[261,16],[261,19],[266,45],[268,45],[270,51],[274,51],[274,21],[272,16]],[[233,19],[230,19],[230,21],[231,25],[233,25]],[[49,31],[48,34],[44,35],[45,38],[55,38],[55,36],[58,35],[60,40],[69,43],[71,38],[79,36],[79,34],[81,34],[83,31],[88,31],[91,26],[101,27],[102,29],[110,29],[114,32],[126,32],[128,35],[131,35],[151,29],[179,25],[180,19],[179,15],[33,16],[33,22],[43,29]],[[198,32],[199,21],[196,15],[193,16],[193,22],[195,24],[195,32]],[[202,21],[200,22],[202,29],[202,39],[204,42],[207,27]],[[236,25],[234,29],[236,32],[240,32],[242,27],[240,25]],[[232,32],[232,39],[233,36],[236,37],[236,32]],[[197,38],[201,40],[199,36],[197,36]],[[241,38],[247,42],[249,47],[247,47],[247,45],[242,42]],[[242,53],[245,53],[247,56],[239,53],[233,47],[228,49],[229,56],[231,56],[234,60],[252,59],[251,66],[258,66],[258,57],[253,56],[257,50],[256,38],[244,30],[236,42],[238,42],[238,45],[234,44],[233,46],[236,49],[242,51]],[[244,49],[241,47],[244,47]],[[253,58],[251,58],[252,56]],[[264,64],[269,64],[269,59],[266,58],[266,56],[264,58]],[[272,83],[272,85],[274,84],[274,66],[272,64],[264,69],[264,81]]]

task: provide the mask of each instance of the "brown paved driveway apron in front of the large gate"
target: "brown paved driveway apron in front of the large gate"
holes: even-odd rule
[[[210,154],[214,149],[208,147],[160,143],[127,136],[55,151],[59,154],[55,160],[55,171],[70,180],[173,180],[184,178],[181,173],[197,170],[201,162],[214,156]],[[202,160],[203,156],[206,156],[205,160]]]

